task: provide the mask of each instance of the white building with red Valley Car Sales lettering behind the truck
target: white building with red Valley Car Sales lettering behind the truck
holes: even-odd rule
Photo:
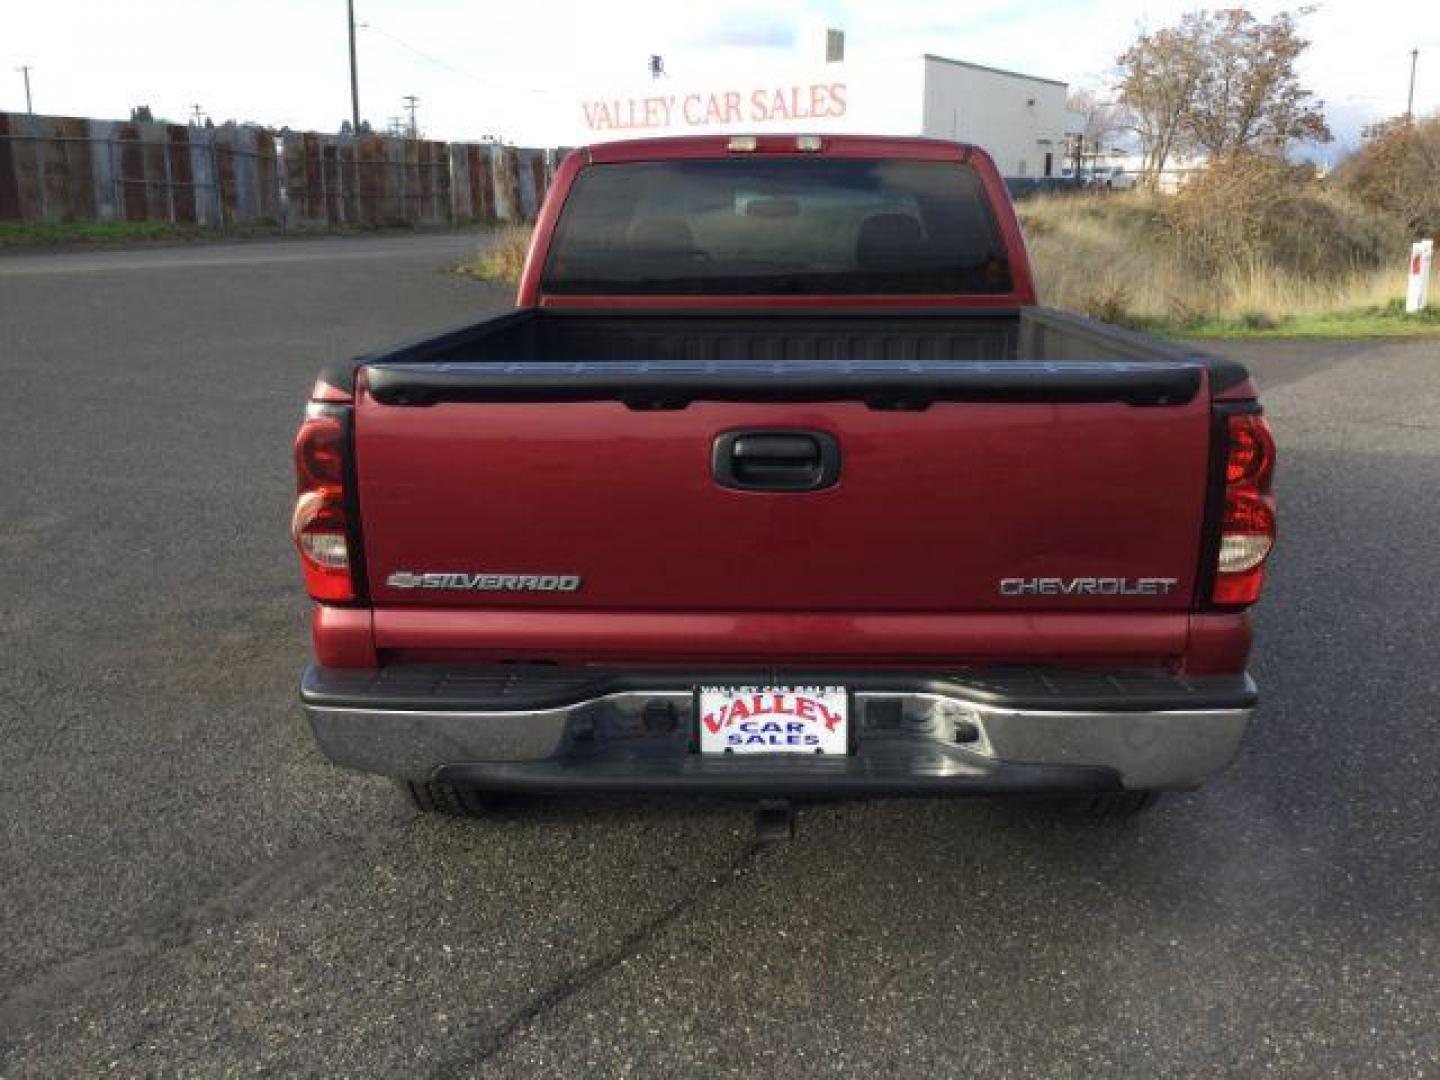
[[[945,56],[658,78],[556,101],[553,144],[765,131],[930,135],[984,147],[1007,177],[1060,176],[1076,131],[1057,79]]]

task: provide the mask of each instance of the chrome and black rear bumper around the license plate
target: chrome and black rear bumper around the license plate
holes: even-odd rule
[[[815,675],[724,678],[799,684]],[[1166,690],[1149,675],[1096,672],[1106,681],[1081,681],[1070,694],[1073,672],[1041,680],[1047,693],[1034,680],[1017,690],[1009,672],[824,678],[852,688],[857,744],[847,757],[694,753],[691,688],[713,684],[713,672],[566,681],[549,671],[537,683],[507,672],[497,684],[472,670],[382,678],[311,668],[301,697],[325,756],[363,772],[510,789],[793,795],[1195,788],[1234,759],[1254,704],[1247,677],[1176,677]],[[1139,688],[1128,691],[1126,680]]]

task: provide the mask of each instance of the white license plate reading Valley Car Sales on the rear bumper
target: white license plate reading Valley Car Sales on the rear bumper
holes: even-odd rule
[[[850,752],[844,687],[698,687],[700,753]]]

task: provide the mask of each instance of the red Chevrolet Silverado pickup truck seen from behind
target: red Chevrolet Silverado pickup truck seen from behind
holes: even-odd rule
[[[986,154],[572,153],[513,312],[325,369],[301,697],[422,808],[1045,793],[1237,753],[1274,444],[1240,364],[1035,305]]]

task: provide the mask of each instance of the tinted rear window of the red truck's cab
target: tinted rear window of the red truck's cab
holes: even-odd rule
[[[590,295],[995,294],[1005,245],[945,161],[726,158],[590,166],[541,282]]]

